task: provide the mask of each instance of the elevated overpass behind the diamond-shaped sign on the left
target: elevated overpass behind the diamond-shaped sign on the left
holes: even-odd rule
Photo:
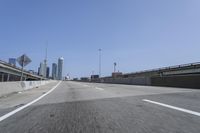
[[[20,81],[21,68],[0,60],[0,82]],[[45,80],[46,78],[24,70],[23,80]]]

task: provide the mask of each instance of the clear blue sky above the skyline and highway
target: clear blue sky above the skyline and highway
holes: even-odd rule
[[[199,0],[0,0],[0,59],[26,53],[37,70],[65,58],[64,74],[102,75],[200,61]]]

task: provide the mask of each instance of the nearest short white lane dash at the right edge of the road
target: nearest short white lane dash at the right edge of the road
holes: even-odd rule
[[[188,114],[200,116],[199,112],[195,112],[195,111],[192,111],[192,110],[179,108],[179,107],[171,106],[171,105],[164,104],[164,103],[159,103],[159,102],[151,101],[151,100],[148,100],[148,99],[143,99],[143,101],[153,103],[153,104],[157,104],[157,105],[160,105],[160,106],[164,106],[164,107],[167,107],[167,108],[170,108],[170,109],[178,110],[178,111],[181,111],[181,112],[185,112],[185,113],[188,113]]]

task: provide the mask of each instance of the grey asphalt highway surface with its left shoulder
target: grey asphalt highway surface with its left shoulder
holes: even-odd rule
[[[200,133],[200,90],[55,85],[1,98],[0,133]]]

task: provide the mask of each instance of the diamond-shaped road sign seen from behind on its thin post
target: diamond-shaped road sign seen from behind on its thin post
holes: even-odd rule
[[[21,72],[21,81],[22,81],[23,80],[23,76],[24,76],[24,67],[26,65],[28,65],[29,63],[31,63],[31,59],[27,55],[23,54],[22,56],[17,58],[17,62],[22,67],[22,69],[21,69],[22,70],[22,72]]]

